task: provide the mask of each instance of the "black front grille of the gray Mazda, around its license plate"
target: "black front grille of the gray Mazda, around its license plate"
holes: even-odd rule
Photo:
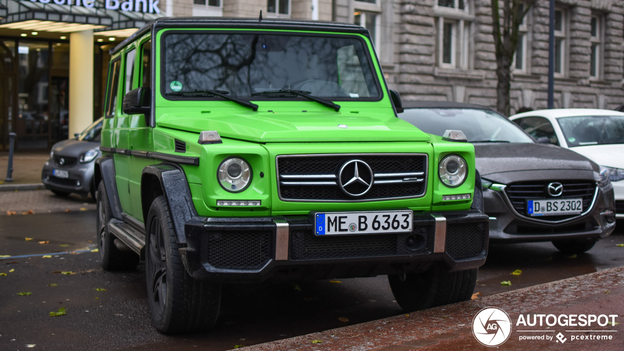
[[[553,181],[560,182],[563,185],[563,194],[558,197],[550,197],[546,194],[545,189]],[[570,199],[582,198],[583,211],[589,209],[592,205],[593,197],[596,191],[596,184],[583,180],[547,180],[542,182],[521,182],[512,183],[505,187],[505,194],[509,198],[514,209],[522,216],[535,219],[535,217],[527,216],[527,200],[537,199]],[[539,220],[557,221],[565,220],[578,215],[548,215],[542,216]]]

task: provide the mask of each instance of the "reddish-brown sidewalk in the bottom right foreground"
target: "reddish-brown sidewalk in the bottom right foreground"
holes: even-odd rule
[[[497,348],[479,344],[472,320],[485,307],[509,314],[512,332]],[[519,315],[618,315],[615,325],[517,326]],[[245,347],[249,351],[624,350],[624,267],[580,275],[454,305]],[[545,317],[544,317],[545,318]],[[565,320],[565,317],[564,319]],[[603,322],[605,319],[603,319]],[[604,324],[604,323],[603,323]],[[539,330],[539,332],[536,332]],[[592,330],[592,331],[588,331]],[[560,342],[556,335],[562,333]],[[520,340],[542,337],[550,340]],[[592,338],[593,336],[593,338]],[[595,337],[612,340],[595,340]],[[575,340],[589,337],[590,340]],[[545,338],[544,338],[545,339]],[[593,340],[591,340],[593,339]]]

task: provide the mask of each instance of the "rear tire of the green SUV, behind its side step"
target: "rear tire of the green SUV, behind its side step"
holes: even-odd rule
[[[95,228],[97,228],[97,250],[105,270],[130,270],[139,264],[139,255],[132,251],[122,251],[115,245],[115,236],[110,234],[108,222],[112,218],[109,197],[106,194],[104,182],[97,187],[95,208]]]

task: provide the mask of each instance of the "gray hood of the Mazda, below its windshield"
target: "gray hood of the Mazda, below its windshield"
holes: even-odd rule
[[[587,157],[550,144],[475,143],[474,151],[477,169],[486,178],[521,171],[599,171]]]

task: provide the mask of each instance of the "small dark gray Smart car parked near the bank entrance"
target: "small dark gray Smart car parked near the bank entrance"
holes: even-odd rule
[[[59,196],[72,192],[94,196],[93,172],[95,159],[100,156],[102,118],[93,122],[73,139],[59,141],[52,146],[50,159],[41,171],[46,189]]]

